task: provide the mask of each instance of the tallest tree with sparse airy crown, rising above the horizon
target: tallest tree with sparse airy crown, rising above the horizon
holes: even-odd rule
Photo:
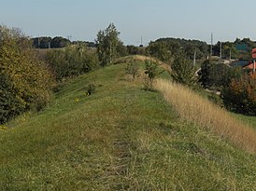
[[[96,47],[99,61],[102,66],[112,64],[119,56],[119,46],[123,46],[119,39],[120,32],[110,23],[105,31],[99,31],[96,38]]]

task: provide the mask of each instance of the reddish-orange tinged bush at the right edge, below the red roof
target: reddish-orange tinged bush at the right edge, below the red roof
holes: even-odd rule
[[[256,77],[242,75],[233,79],[222,91],[222,99],[228,109],[236,113],[256,116]]]

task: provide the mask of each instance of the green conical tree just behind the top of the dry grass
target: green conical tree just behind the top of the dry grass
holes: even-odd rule
[[[194,86],[197,82],[195,76],[195,68],[192,61],[185,58],[184,53],[178,54],[173,64],[171,65],[173,79],[187,86]]]

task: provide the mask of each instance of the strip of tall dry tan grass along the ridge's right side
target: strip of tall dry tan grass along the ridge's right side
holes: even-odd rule
[[[174,105],[182,119],[210,128],[250,153],[256,153],[256,131],[231,116],[229,112],[191,89],[170,81],[158,79],[154,86],[164,94],[167,102]]]

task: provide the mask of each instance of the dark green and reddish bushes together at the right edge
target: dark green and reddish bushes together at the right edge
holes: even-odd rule
[[[240,68],[205,61],[199,73],[206,89],[220,90],[225,107],[233,112],[256,116],[256,78]]]

